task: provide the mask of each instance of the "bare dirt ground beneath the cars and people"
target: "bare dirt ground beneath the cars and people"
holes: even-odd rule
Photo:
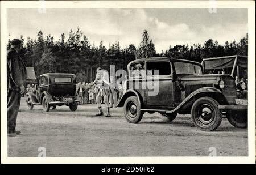
[[[105,108],[103,108],[105,109]],[[38,156],[39,147],[48,157],[87,156],[247,156],[247,129],[237,129],[223,119],[217,131],[197,129],[190,115],[163,122],[157,114],[144,114],[138,124],[128,123],[122,108],[111,109],[112,117],[94,117],[96,106],[68,106],[43,112],[29,110],[22,100],[16,130],[8,138],[9,156]],[[212,148],[210,148],[212,147]],[[210,149],[210,151],[209,151]]]

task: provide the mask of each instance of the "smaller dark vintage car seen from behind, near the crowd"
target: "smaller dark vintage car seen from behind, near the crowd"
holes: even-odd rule
[[[79,95],[76,92],[76,76],[74,74],[49,73],[38,76],[34,92],[27,93],[27,105],[43,105],[43,110],[56,109],[56,106],[67,105],[75,111]]]

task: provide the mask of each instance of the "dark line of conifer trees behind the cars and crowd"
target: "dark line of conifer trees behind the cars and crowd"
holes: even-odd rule
[[[10,36],[10,35],[9,35]],[[162,53],[156,53],[155,45],[146,30],[142,33],[142,41],[138,48],[130,44],[121,48],[119,41],[109,44],[106,48],[103,41],[96,46],[90,44],[88,38],[82,33],[81,28],[69,32],[67,40],[62,33],[58,41],[53,41],[50,34],[43,36],[41,30],[35,39],[27,38],[27,43],[22,40],[20,56],[28,67],[34,67],[36,76],[47,72],[62,72],[76,74],[77,80],[90,82],[96,75],[96,68],[102,67],[109,71],[110,65],[115,65],[115,70],[126,69],[127,64],[134,59],[148,57],[170,57],[177,59],[188,59],[201,62],[203,58],[231,56],[241,54],[247,56],[248,34],[240,42],[233,40],[225,42],[225,45],[209,39],[204,45],[193,44],[189,46],[175,45]],[[10,39],[7,49],[10,48]]]

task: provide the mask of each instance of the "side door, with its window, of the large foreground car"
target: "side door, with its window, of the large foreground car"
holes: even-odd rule
[[[172,65],[170,61],[148,61],[147,89],[144,93],[146,105],[150,108],[174,106],[174,82],[172,81]],[[158,74],[157,72],[158,71]]]

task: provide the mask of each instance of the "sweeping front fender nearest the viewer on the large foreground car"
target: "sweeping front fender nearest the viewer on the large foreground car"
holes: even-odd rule
[[[193,91],[175,109],[167,111],[166,113],[180,112],[184,110],[190,111],[193,103],[195,103],[197,99],[203,96],[212,97],[220,104],[227,104],[224,95],[222,95],[222,92],[219,89],[214,87],[203,87]]]

